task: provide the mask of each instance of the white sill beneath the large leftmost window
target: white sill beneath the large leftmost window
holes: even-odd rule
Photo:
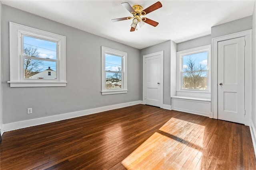
[[[67,82],[11,82],[10,87],[56,87],[66,86]]]

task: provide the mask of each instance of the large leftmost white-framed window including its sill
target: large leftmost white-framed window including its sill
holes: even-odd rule
[[[65,41],[62,35],[10,22],[10,86],[66,86]]]

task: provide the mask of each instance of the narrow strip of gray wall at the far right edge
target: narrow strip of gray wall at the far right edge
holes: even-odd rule
[[[256,127],[256,5],[252,15],[252,123]]]

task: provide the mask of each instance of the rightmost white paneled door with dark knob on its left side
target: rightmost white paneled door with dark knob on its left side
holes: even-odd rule
[[[218,42],[218,119],[244,124],[244,37]]]

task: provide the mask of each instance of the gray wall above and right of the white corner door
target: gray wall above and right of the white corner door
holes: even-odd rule
[[[163,43],[153,45],[141,50],[141,57],[143,55],[164,51],[164,104],[171,105],[170,96],[170,56],[171,56],[171,40]],[[142,69],[141,69],[142,72]]]

